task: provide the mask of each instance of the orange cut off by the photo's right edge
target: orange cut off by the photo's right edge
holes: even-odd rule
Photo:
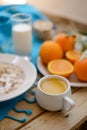
[[[81,81],[87,81],[87,58],[78,60],[74,65],[75,74]]]

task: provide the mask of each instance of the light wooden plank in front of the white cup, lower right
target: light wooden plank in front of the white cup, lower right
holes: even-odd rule
[[[87,117],[87,88],[73,94],[76,106],[68,118],[60,112],[45,112],[20,130],[75,130]]]

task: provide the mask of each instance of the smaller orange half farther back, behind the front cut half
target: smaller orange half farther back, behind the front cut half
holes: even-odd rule
[[[65,57],[66,57],[66,59],[68,59],[72,63],[75,63],[75,61],[80,59],[81,55],[82,55],[81,51],[70,50],[70,51],[66,52]]]

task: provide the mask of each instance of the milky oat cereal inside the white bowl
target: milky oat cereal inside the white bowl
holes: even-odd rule
[[[16,90],[24,80],[22,68],[14,64],[0,63],[0,95]]]

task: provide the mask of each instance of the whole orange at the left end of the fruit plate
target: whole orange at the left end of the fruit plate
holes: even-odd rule
[[[46,41],[40,48],[40,57],[42,62],[47,65],[53,59],[63,58],[63,51],[54,41]]]

